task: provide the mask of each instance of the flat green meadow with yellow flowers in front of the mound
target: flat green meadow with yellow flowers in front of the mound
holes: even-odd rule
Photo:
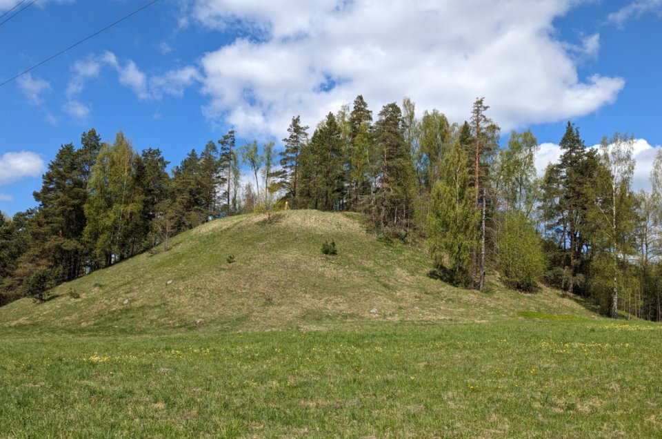
[[[662,437],[662,326],[528,313],[0,340],[0,437]]]

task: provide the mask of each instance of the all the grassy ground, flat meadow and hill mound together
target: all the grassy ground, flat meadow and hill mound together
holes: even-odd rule
[[[659,324],[454,288],[338,213],[172,244],[0,308],[0,438],[662,437]]]

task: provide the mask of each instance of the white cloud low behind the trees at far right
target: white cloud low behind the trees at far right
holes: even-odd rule
[[[598,148],[599,145],[591,146]],[[645,139],[634,139],[632,156],[636,165],[632,175],[632,188],[634,191],[645,189],[650,191],[650,171],[653,168],[653,161],[657,151],[662,146],[651,146]],[[538,155],[536,156],[536,170],[539,177],[545,173],[545,168],[550,163],[558,163],[561,157],[561,148],[556,144],[541,144]]]

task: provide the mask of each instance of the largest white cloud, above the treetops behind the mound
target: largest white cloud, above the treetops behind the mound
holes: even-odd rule
[[[201,59],[205,115],[281,138],[293,115],[314,126],[362,94],[374,113],[409,96],[419,110],[469,117],[476,97],[502,128],[592,113],[623,79],[579,79],[553,21],[570,0],[197,0],[194,19],[245,39]],[[582,50],[594,55],[599,36]]]

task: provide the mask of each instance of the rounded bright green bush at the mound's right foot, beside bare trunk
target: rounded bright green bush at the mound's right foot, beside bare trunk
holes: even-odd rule
[[[505,282],[515,289],[533,291],[543,277],[547,261],[542,241],[523,213],[505,216],[497,259]]]

